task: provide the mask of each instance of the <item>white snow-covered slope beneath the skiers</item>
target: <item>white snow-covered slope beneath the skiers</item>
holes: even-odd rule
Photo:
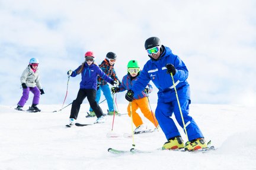
[[[107,122],[85,127],[65,128],[71,107],[62,112],[61,105],[39,105],[40,113],[0,106],[0,169],[256,169],[255,107],[191,104],[190,115],[200,126],[206,140],[217,151],[183,153],[156,151],[114,155],[108,148],[130,149],[133,140],[124,138],[132,126],[127,115],[116,116],[113,132],[119,138],[107,138],[113,116]],[[28,106],[25,106],[28,107]],[[107,110],[105,104],[101,104]],[[126,113],[127,104],[119,104]],[[155,104],[152,104],[155,110]],[[83,104],[77,122],[93,123],[85,118],[88,105]],[[152,127],[151,123],[145,123]],[[183,134],[183,139],[185,136]],[[135,136],[135,148],[153,150],[166,142],[164,133]]]

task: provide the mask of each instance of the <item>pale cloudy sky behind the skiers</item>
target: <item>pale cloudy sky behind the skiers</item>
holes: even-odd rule
[[[94,51],[98,64],[109,51],[116,53],[121,80],[130,60],[143,68],[149,60],[144,42],[156,36],[186,64],[192,103],[254,106],[255,8],[252,0],[0,0],[0,104],[20,100],[20,76],[30,58],[40,61],[40,104],[60,104],[66,72],[84,62],[86,51]],[[80,80],[69,80],[66,103],[75,99]],[[117,95],[120,103],[124,94]]]

